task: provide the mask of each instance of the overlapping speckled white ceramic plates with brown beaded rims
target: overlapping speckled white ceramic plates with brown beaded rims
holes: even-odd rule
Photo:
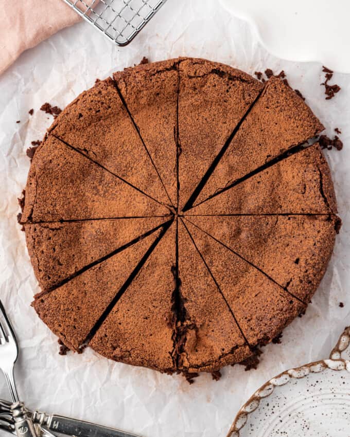
[[[239,410],[228,437],[349,437],[350,327],[329,359],[270,379]]]

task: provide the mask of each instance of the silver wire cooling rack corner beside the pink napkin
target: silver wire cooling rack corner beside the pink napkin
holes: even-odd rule
[[[129,44],[166,0],[64,0],[85,21],[118,44]]]

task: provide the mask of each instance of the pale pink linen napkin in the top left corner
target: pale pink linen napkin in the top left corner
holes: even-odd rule
[[[27,48],[80,20],[62,0],[0,0],[0,74]]]

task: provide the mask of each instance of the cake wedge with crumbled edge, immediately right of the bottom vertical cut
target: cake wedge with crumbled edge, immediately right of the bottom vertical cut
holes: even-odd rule
[[[179,369],[215,371],[252,353],[184,224],[179,221],[179,277],[183,305],[177,329]]]

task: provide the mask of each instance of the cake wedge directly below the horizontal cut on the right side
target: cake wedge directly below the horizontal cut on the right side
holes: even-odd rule
[[[305,303],[333,251],[337,218],[327,215],[188,217]]]

